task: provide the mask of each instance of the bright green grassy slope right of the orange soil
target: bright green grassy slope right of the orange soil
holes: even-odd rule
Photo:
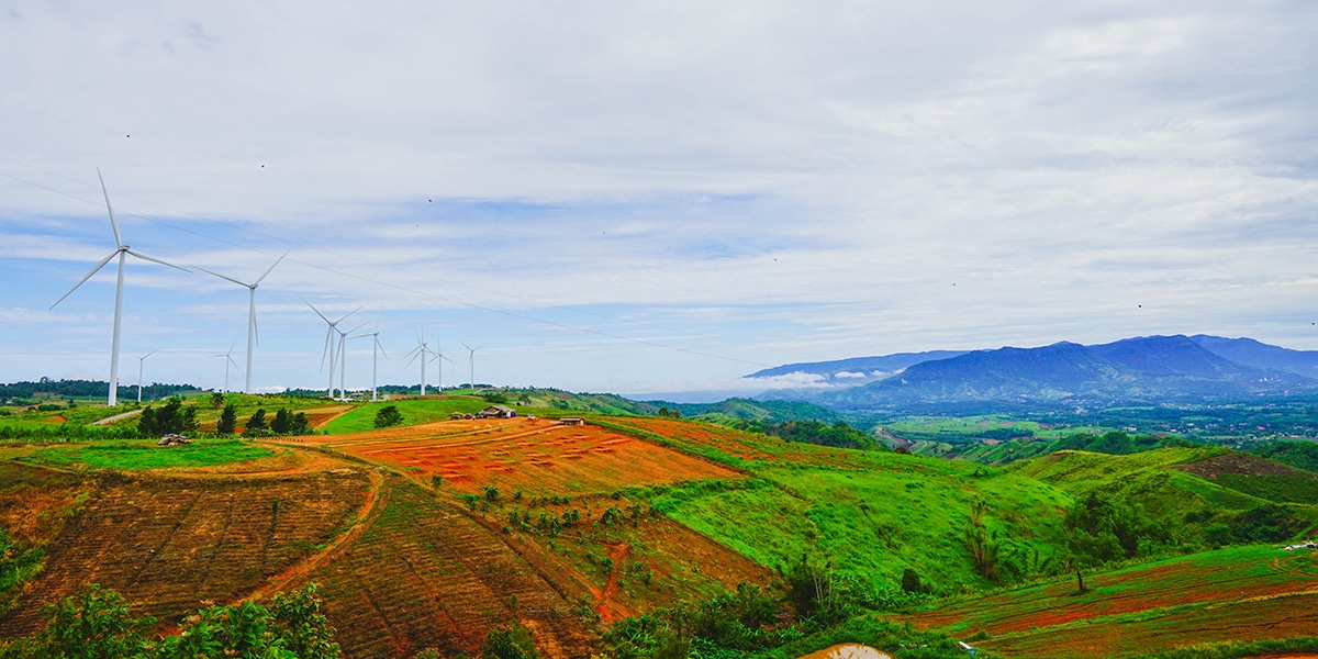
[[[834,449],[840,451],[840,449]],[[878,594],[912,568],[945,592],[986,587],[963,546],[971,501],[1003,555],[1037,568],[1056,552],[1070,497],[1003,469],[895,453],[854,456],[869,468],[762,465],[749,484],[688,484],[651,505],[768,567],[809,556]]]

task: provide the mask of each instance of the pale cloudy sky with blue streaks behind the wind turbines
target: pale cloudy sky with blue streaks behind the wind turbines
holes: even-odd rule
[[[1318,349],[1318,5],[0,1],[0,381],[726,390],[924,349]],[[372,344],[349,341],[349,387]],[[438,380],[435,364],[427,373]],[[232,387],[243,374],[229,373]]]

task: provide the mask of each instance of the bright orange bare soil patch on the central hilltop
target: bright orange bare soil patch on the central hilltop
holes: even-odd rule
[[[741,478],[721,465],[604,428],[542,419],[444,420],[410,428],[316,438],[332,451],[386,464],[428,486],[459,492],[589,493],[689,478]],[[571,442],[564,442],[569,439]]]

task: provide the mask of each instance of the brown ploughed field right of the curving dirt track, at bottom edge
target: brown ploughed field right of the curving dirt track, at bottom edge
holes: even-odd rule
[[[307,575],[345,656],[410,656],[427,647],[476,655],[517,619],[551,658],[587,656],[569,602],[522,556],[453,506],[393,478],[384,510],[337,560]],[[588,608],[589,610],[589,608]]]

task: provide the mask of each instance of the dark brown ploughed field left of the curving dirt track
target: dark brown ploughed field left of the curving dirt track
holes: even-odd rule
[[[240,600],[337,535],[366,485],[349,468],[248,478],[107,473],[0,619],[0,638],[30,633],[42,605],[94,583],[165,619],[202,600]]]

